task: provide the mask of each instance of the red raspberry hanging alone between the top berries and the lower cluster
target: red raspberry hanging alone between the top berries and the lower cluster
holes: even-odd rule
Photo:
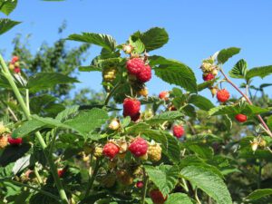
[[[123,116],[131,116],[135,117],[135,115],[138,115],[141,110],[141,102],[139,102],[137,99],[131,99],[126,98],[123,101]]]

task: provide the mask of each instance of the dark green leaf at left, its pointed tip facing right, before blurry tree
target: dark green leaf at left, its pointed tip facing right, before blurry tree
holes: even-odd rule
[[[66,83],[79,83],[79,81],[62,73],[36,73],[29,78],[27,89],[30,92],[39,92]]]

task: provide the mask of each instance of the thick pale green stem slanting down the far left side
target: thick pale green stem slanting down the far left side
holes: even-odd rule
[[[8,83],[10,83],[13,91],[15,92],[15,97],[16,97],[17,101],[19,102],[21,108],[23,109],[25,118],[27,120],[31,120],[31,114],[30,114],[21,93],[19,92],[19,89],[15,84],[14,78],[13,78],[12,74],[9,72],[9,69],[7,68],[7,66],[5,64],[5,60],[3,59],[1,54],[0,54],[0,63],[1,63],[1,66],[3,68],[2,73],[5,75],[5,78],[7,79]],[[58,177],[57,169],[56,169],[55,164],[54,164],[54,162],[52,160],[52,157],[51,157],[51,155],[47,155],[47,153],[46,153],[47,145],[46,145],[46,143],[44,141],[44,138],[43,138],[42,134],[40,133],[40,131],[36,131],[35,136],[37,137],[37,139],[40,142],[40,145],[41,145],[41,147],[42,147],[42,149],[44,151],[44,155],[45,155],[45,157],[46,157],[46,159],[48,161],[48,164],[50,166],[50,169],[52,171],[53,179],[55,181],[56,187],[59,190],[60,197],[61,197],[63,203],[68,203],[66,193],[65,193],[65,191],[63,189],[62,182]]]

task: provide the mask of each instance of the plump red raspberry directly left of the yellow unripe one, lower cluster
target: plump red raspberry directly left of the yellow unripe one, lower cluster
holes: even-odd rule
[[[146,152],[148,151],[148,148],[149,148],[149,145],[147,141],[139,137],[131,142],[129,150],[135,157],[141,157],[146,154]]]

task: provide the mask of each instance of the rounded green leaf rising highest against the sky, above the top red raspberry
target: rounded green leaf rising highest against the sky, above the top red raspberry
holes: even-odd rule
[[[141,42],[145,45],[147,52],[156,50],[162,47],[164,44],[167,44],[169,41],[169,36],[164,28],[153,27],[150,30],[141,33],[136,32],[131,35],[131,39],[140,39]]]

